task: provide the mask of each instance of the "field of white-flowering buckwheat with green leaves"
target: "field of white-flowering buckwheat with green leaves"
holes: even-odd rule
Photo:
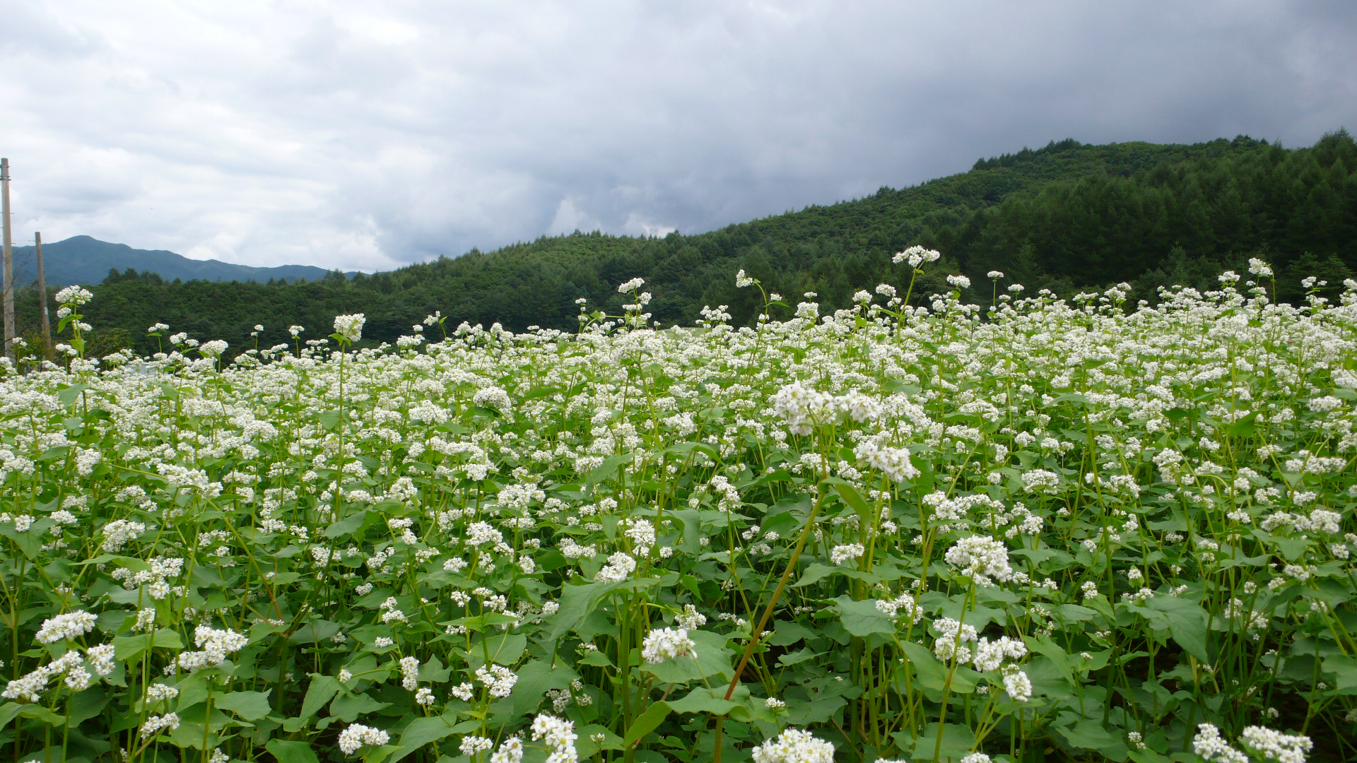
[[[1357,282],[1270,276],[151,358],[65,289],[3,380],[0,758],[1354,759]]]

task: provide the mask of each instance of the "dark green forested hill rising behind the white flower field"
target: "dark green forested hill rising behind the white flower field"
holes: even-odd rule
[[[858,288],[902,288],[908,266],[890,258],[916,243],[944,254],[916,285],[916,300],[942,291],[946,274],[963,273],[974,284],[966,297],[988,303],[989,270],[1029,293],[1128,281],[1132,300],[1153,300],[1160,285],[1212,286],[1221,269],[1248,257],[1273,262],[1281,296],[1295,299],[1304,276],[1338,285],[1357,270],[1357,145],[1346,130],[1299,149],[1248,137],[1193,145],[1065,140],[919,186],[697,235],[577,232],[296,284],[179,284],[123,273],[94,289],[85,315],[96,333],[122,329],[141,350],[151,349],[144,334],[155,322],[244,349],[256,323],[267,346],[286,341],[292,323],[323,337],[342,312],[365,312],[364,338],[372,341],[394,341],[436,310],[449,326],[573,329],[577,297],[617,312],[616,285],[639,276],[665,326],[691,324],[706,304],[729,304],[746,322],[757,295],[734,288],[741,267],[792,304],[810,291],[826,308],[843,307]],[[26,297],[22,320],[31,327],[37,303],[33,292]]]

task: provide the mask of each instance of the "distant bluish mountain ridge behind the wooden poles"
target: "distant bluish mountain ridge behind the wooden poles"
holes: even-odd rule
[[[324,267],[313,265],[278,265],[275,267],[251,267],[232,265],[220,259],[189,259],[182,254],[166,250],[132,248],[128,244],[100,242],[91,236],[72,236],[60,242],[42,244],[43,276],[47,286],[71,284],[99,284],[109,270],[155,273],[166,281],[258,281],[270,280],[296,282],[318,281],[330,274]],[[34,247],[14,247],[15,282],[27,285],[38,280]]]

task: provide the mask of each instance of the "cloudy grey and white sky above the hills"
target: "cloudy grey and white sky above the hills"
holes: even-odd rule
[[[1357,130],[1357,3],[0,0],[15,243],[383,270]]]

